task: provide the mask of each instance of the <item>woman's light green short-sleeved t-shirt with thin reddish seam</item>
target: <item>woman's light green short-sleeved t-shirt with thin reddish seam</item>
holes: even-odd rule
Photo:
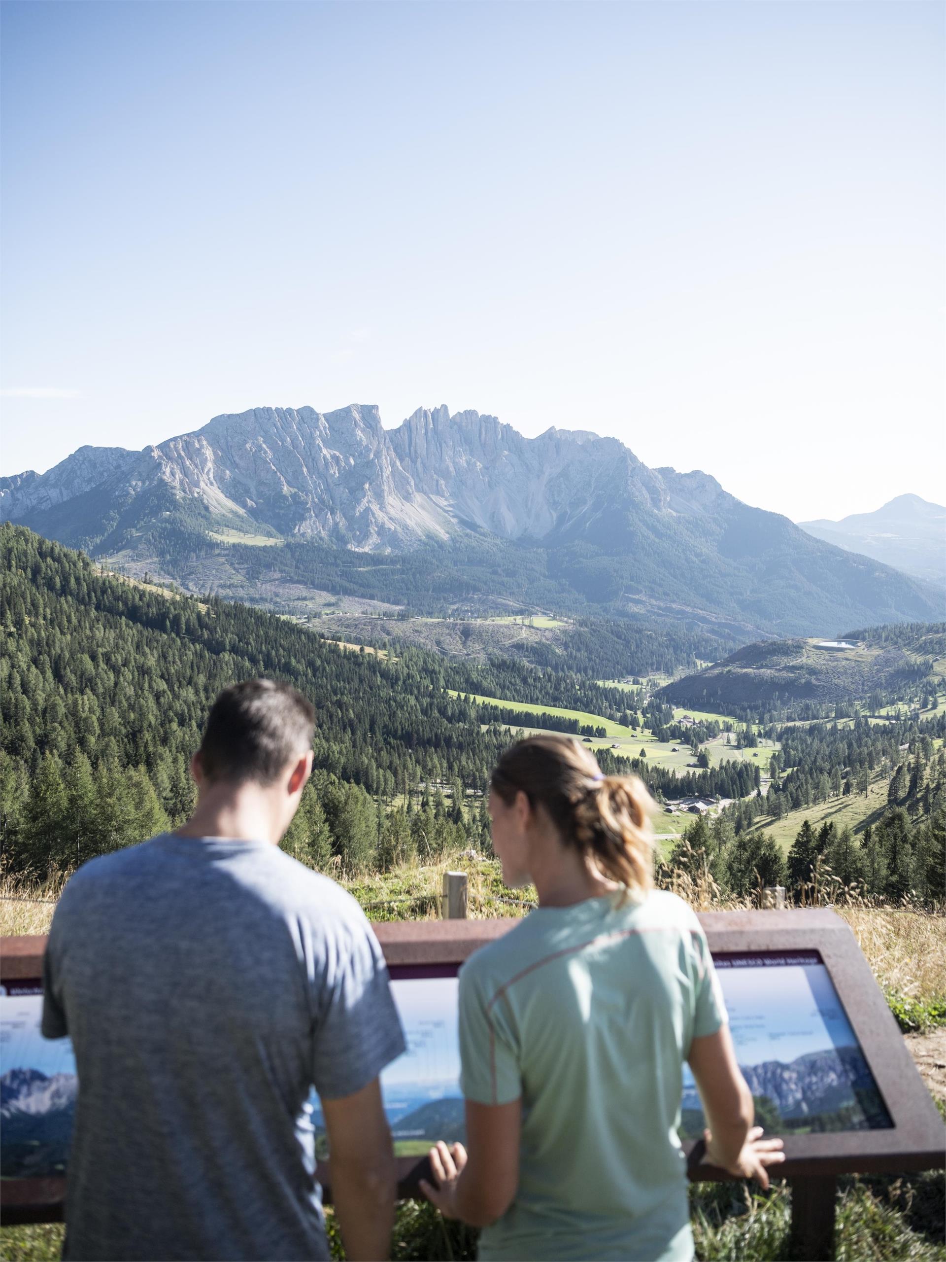
[[[689,1259],[682,1065],[725,1007],[672,893],[539,907],[460,970],[467,1099],[522,1097],[516,1199],[479,1257]]]

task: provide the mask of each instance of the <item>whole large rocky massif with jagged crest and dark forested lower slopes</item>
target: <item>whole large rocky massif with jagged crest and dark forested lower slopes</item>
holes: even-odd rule
[[[936,588],[614,438],[477,411],[256,408],[141,452],[0,478],[0,514],[130,573],[286,610],[319,588],[425,612],[555,607],[830,632],[936,617]]]

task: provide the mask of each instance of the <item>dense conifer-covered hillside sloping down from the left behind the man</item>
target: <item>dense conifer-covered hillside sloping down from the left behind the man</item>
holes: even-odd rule
[[[444,689],[431,655],[353,654],[270,613],[132,586],[21,528],[0,528],[0,543],[8,863],[71,864],[180,819],[207,709],[251,675],[288,679],[315,704],[309,806],[332,815],[332,795],[343,799],[328,839],[312,824],[323,859],[383,846],[375,799],[434,781],[482,789],[508,740]]]

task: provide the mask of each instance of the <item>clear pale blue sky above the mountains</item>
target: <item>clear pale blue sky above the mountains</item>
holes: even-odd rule
[[[16,3],[0,473],[221,413],[942,502],[938,3]]]

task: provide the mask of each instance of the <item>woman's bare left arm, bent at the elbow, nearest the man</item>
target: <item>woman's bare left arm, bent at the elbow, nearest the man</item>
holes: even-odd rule
[[[474,1104],[467,1100],[467,1142],[430,1150],[436,1186],[421,1180],[428,1200],[447,1218],[488,1227],[506,1213],[518,1188],[522,1100]]]

